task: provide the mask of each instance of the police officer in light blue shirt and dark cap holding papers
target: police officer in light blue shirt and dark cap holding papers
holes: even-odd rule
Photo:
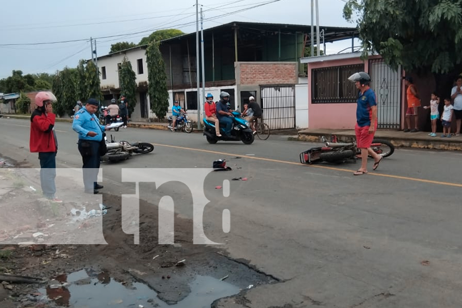
[[[96,99],[90,98],[85,107],[80,109],[72,122],[72,129],[79,134],[79,152],[83,161],[83,177],[85,193],[98,193],[103,188],[98,185],[97,177],[100,165],[99,145],[103,140],[103,132],[109,130],[108,126],[99,124],[95,113],[99,103]]]

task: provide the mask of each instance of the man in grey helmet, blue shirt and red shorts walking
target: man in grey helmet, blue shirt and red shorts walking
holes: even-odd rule
[[[383,157],[371,149],[374,133],[377,130],[377,102],[376,95],[371,89],[371,77],[365,72],[357,72],[351,75],[348,80],[355,83],[358,92],[356,101],[356,143],[361,149],[361,167],[353,175],[367,174],[367,157],[374,158],[373,170],[377,169]]]

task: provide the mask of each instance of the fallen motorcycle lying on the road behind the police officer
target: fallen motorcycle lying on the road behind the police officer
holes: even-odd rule
[[[134,153],[146,154],[154,151],[154,145],[147,142],[135,142],[132,144],[124,140],[116,142],[112,135],[109,143],[107,142],[106,136],[104,136],[104,140],[106,140],[108,151],[101,157],[102,162],[126,160]]]

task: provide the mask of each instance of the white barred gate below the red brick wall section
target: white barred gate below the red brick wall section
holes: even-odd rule
[[[295,128],[295,85],[260,87],[263,121],[270,129]]]

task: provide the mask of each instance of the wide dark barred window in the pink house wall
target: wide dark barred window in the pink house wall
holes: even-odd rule
[[[355,72],[364,72],[364,64],[313,69],[311,103],[356,103],[358,90],[348,80]]]

